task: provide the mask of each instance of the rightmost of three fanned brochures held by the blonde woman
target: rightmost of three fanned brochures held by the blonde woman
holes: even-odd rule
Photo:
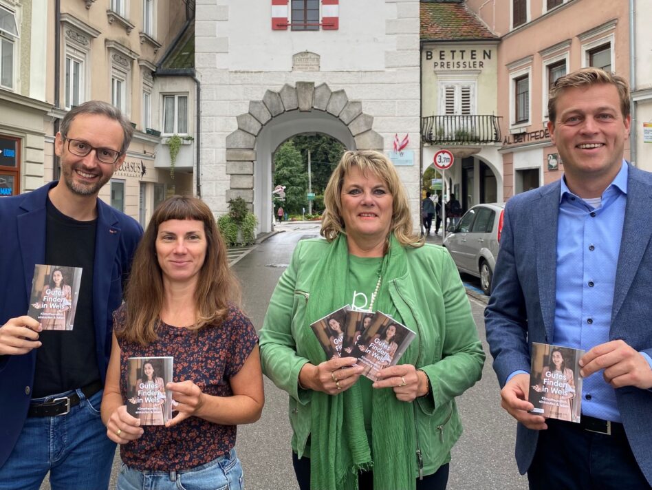
[[[358,358],[358,364],[365,366],[362,374],[371,381],[378,381],[378,372],[395,365],[414,337],[415,333],[402,323],[376,312],[358,341],[358,348],[365,353]]]

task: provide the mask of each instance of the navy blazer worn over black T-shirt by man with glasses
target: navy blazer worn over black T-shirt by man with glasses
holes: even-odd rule
[[[51,182],[36,191],[0,199],[2,252],[0,271],[0,326],[27,315],[34,264],[45,260],[45,203]],[[93,307],[97,360],[102,381],[109,364],[113,310],[122,303],[122,281],[142,236],[133,218],[98,199],[98,226],[93,270]],[[18,439],[34,383],[36,350],[19,356],[0,356],[0,466]]]

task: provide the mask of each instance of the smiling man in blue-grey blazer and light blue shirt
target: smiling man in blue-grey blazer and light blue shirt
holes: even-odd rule
[[[502,406],[530,489],[652,484],[652,175],[622,159],[629,87],[595,68],[553,85],[561,180],[515,195],[486,308]],[[528,413],[532,342],[585,350],[580,423]]]

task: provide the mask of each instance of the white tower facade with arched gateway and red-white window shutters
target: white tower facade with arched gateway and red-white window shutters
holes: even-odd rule
[[[197,3],[201,197],[217,214],[242,197],[272,227],[272,154],[318,132],[393,153],[419,213],[419,1]],[[405,139],[407,136],[407,139]],[[418,221],[417,221],[418,222]]]

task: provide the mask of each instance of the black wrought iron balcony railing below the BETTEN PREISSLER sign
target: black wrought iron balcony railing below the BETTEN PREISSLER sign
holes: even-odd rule
[[[500,142],[501,116],[428,116],[421,118],[421,140],[436,145]]]

